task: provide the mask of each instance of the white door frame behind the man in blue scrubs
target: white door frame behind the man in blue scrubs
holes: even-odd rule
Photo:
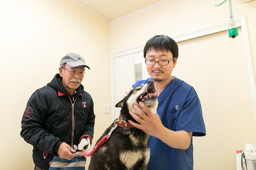
[[[237,27],[241,26],[242,29],[242,35],[245,45],[245,57],[246,57],[246,63],[247,63],[247,72],[248,72],[248,78],[249,78],[249,84],[250,84],[250,90],[251,90],[251,98],[252,103],[256,103],[256,83],[255,83],[255,75],[254,75],[254,69],[253,69],[253,62],[252,62],[252,56],[251,56],[251,47],[249,42],[249,34],[248,34],[248,28],[247,28],[247,22],[246,22],[246,16],[242,16],[239,18],[235,18],[235,23]],[[189,30],[186,32],[182,32],[179,34],[175,34],[170,36],[174,39],[175,42],[181,42],[201,36],[205,36],[208,34],[213,34],[221,31],[227,30],[229,25],[229,21],[224,21],[221,23],[217,23],[214,25],[208,25],[205,27]],[[140,44],[137,46],[133,46],[131,48],[122,49],[119,51],[111,52],[110,54],[110,75],[111,75],[111,122],[114,121],[115,118],[115,103],[114,103],[114,94],[115,94],[115,87],[114,87],[114,58],[121,57],[124,55],[136,53],[143,51],[144,44]],[[256,128],[256,105],[253,104],[253,115],[254,115],[254,122],[255,122],[255,128]]]

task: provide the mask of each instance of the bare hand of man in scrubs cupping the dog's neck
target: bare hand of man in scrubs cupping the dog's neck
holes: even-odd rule
[[[145,110],[146,114],[137,106],[133,105],[134,109],[139,114],[136,115],[134,112],[129,111],[130,115],[139,123],[135,123],[131,120],[128,120],[130,124],[132,124],[134,127],[141,129],[145,133],[151,136],[158,137],[159,130],[161,130],[163,126],[159,115],[153,114],[151,110],[142,102],[139,102],[139,105],[143,110]]]

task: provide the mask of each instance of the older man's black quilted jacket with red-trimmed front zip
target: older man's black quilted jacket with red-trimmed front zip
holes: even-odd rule
[[[33,145],[36,166],[49,169],[62,142],[73,147],[82,135],[94,134],[94,106],[91,95],[80,85],[70,95],[56,74],[47,86],[30,97],[21,121],[21,137]]]

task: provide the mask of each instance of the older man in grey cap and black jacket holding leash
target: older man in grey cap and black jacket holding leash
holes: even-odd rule
[[[33,145],[34,170],[49,169],[54,155],[71,160],[74,145],[89,149],[95,114],[93,99],[81,85],[85,68],[90,69],[82,56],[69,53],[60,60],[59,74],[31,95],[20,134]]]

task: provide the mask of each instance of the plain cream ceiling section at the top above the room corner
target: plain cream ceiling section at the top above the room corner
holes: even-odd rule
[[[75,0],[108,21],[167,0]]]

